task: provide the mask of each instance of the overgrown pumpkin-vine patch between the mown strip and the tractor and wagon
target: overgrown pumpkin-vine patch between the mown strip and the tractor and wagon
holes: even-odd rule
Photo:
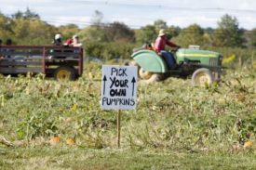
[[[86,148],[115,146],[115,111],[101,111],[101,65],[76,82],[1,77],[0,124],[12,140],[76,137]],[[138,150],[233,151],[255,139],[255,72],[228,72],[220,85],[169,78],[138,86],[136,111],[122,113],[122,146]],[[97,104],[98,103],[98,104]],[[8,114],[7,114],[8,113]]]

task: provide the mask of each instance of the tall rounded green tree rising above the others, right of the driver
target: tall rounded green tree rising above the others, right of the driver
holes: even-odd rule
[[[218,28],[213,33],[213,45],[229,47],[243,46],[245,43],[243,35],[244,31],[239,28],[236,17],[226,14],[222,16],[218,22]]]

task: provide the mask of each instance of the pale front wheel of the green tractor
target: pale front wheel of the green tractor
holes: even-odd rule
[[[209,69],[197,69],[192,75],[192,85],[211,85],[213,83],[213,75]]]

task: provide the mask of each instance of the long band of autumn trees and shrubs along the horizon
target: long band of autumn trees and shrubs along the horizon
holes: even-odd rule
[[[145,42],[154,42],[160,29],[166,29],[168,38],[186,47],[199,45],[206,49],[230,48],[253,49],[256,46],[256,28],[245,30],[239,27],[236,17],[228,14],[218,21],[218,27],[202,28],[198,24],[180,28],[168,25],[165,20],[155,20],[153,24],[131,29],[125,23],[114,21],[105,24],[103,14],[96,10],[92,24],[80,29],[75,24],[54,26],[41,20],[40,16],[27,8],[7,17],[0,13],[0,39],[12,39],[17,45],[49,45],[55,33],[62,33],[64,39],[78,34],[88,56],[103,59],[128,58],[132,48]]]

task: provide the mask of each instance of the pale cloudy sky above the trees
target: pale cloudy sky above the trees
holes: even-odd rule
[[[240,28],[256,28],[256,0],[0,0],[0,12],[7,16],[27,7],[41,20],[57,26],[74,23],[85,28],[98,10],[103,14],[102,22],[120,21],[130,28],[155,20],[181,28],[194,23],[216,28],[225,14],[236,17]]]

